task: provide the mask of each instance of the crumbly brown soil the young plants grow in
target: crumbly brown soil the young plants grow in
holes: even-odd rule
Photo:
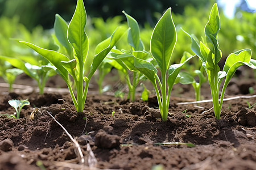
[[[249,87],[256,90],[255,78],[240,75],[226,96],[255,95]],[[53,91],[39,95],[1,90],[1,114],[15,112],[10,99],[28,99],[30,105],[22,108],[19,119],[0,116],[0,169],[256,169],[256,111],[247,104],[256,103],[256,97],[224,101],[217,120],[209,110],[212,103],[179,105],[193,99],[193,90],[175,86],[168,120],[162,122],[154,95],[130,102],[90,92],[84,112],[76,112],[67,90]],[[210,99],[207,84],[202,95]],[[84,164],[48,113],[79,142]]]

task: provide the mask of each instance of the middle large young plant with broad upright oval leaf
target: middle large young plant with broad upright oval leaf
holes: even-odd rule
[[[113,57],[119,58],[131,71],[139,71],[150,80],[155,88],[163,121],[167,120],[170,94],[175,79],[177,78],[181,67],[189,61],[189,59],[194,57],[189,57],[183,63],[170,65],[170,59],[176,40],[176,28],[171,16],[171,8],[168,8],[155,25],[150,41],[150,52],[152,54],[151,62],[157,63],[161,79],[158,76],[158,69],[156,69],[151,62],[137,58],[130,53],[112,53]],[[156,82],[158,82],[158,84]]]

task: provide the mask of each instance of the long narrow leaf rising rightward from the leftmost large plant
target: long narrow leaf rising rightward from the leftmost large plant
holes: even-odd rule
[[[90,73],[88,75],[88,79],[91,79],[95,71],[97,70],[98,66],[100,66],[100,63],[103,61],[103,59],[108,55],[110,50],[114,47],[115,43],[122,37],[122,35],[125,33],[125,30],[123,27],[118,27],[115,29],[114,33],[111,36],[110,44],[107,48],[102,50],[100,53],[98,53],[94,58],[92,65],[90,67]]]

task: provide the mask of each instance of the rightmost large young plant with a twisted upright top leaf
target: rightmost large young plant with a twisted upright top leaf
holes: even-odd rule
[[[220,70],[218,62],[222,57],[221,50],[218,48],[217,33],[220,30],[220,16],[218,13],[217,3],[215,3],[210,11],[208,23],[205,25],[205,42],[198,44],[195,38],[191,35],[192,50],[200,58],[202,66],[207,73],[208,82],[210,84],[210,91],[212,94],[212,102],[214,114],[217,119],[220,118],[220,112],[224,99],[224,94],[228,83],[238,67],[247,65],[252,69],[256,69],[256,61],[251,59],[251,50],[242,49],[237,52],[229,54],[226,58],[226,62],[223,70]],[[224,85],[222,87],[221,96],[219,100],[220,84],[225,78]]]

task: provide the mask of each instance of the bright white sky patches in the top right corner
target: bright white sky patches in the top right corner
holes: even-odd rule
[[[218,4],[224,7],[224,14],[228,18],[233,18],[235,14],[236,7],[239,6],[241,0],[218,0]],[[256,11],[256,1],[255,0],[246,0],[247,5],[251,10]]]

